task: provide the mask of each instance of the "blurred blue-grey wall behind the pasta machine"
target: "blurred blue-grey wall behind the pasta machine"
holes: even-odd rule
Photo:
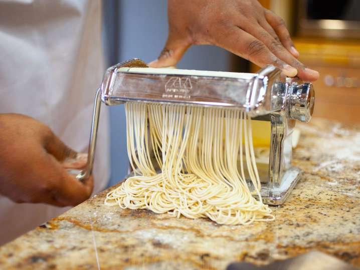
[[[150,62],[157,58],[167,38],[165,0],[105,0],[103,2],[104,46],[107,66],[140,58]],[[177,65],[181,69],[230,69],[230,54],[213,46],[191,48]],[[110,108],[111,180],[123,179],[127,172],[125,113],[122,105]]]

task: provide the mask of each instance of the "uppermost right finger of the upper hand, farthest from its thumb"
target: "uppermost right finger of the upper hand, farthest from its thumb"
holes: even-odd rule
[[[298,57],[299,52],[295,49],[294,43],[290,38],[290,33],[286,28],[284,20],[274,14],[273,12],[266,10],[265,18],[269,25],[274,29],[276,35],[279,37],[284,47],[294,56]]]

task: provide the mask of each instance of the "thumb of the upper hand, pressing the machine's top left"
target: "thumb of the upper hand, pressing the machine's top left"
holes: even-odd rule
[[[186,42],[185,39],[175,39],[169,36],[164,49],[160,53],[160,56],[148,65],[151,68],[175,66],[177,62],[182,59],[183,55],[190,46],[191,44]]]

